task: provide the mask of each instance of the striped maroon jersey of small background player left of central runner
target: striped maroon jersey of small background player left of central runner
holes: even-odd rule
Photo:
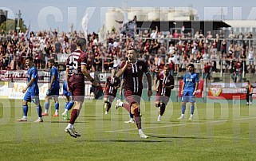
[[[107,88],[105,89],[105,95],[116,96],[117,86],[120,85],[120,79],[118,77],[107,78]]]

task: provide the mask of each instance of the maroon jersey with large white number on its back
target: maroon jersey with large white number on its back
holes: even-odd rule
[[[85,53],[76,49],[66,61],[66,68],[69,68],[69,81],[85,81],[85,76],[81,72],[81,65],[87,65]]]

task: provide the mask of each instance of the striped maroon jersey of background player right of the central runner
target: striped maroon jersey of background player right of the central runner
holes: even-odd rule
[[[157,95],[158,96],[171,96],[171,88],[165,88],[164,86],[170,86],[174,85],[174,78],[171,76],[171,74],[168,74],[168,76],[165,76],[163,73],[159,73],[156,76],[156,79],[160,81],[160,84],[157,88]],[[164,85],[163,85],[164,84]]]

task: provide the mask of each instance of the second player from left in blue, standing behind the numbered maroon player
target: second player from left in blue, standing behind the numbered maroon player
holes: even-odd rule
[[[53,97],[53,100],[55,102],[55,113],[53,116],[59,116],[59,90],[60,90],[60,78],[59,78],[59,71],[57,70],[56,66],[54,66],[54,60],[50,59],[48,61],[49,69],[50,69],[50,75],[49,75],[49,87],[46,92],[45,96],[45,112],[42,113],[42,116],[48,116],[48,110],[49,110],[49,99]]]

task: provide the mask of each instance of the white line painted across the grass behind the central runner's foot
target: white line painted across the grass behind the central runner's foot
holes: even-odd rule
[[[241,119],[235,119],[235,120],[215,120],[211,122],[204,122],[204,123],[187,123],[187,124],[171,124],[166,126],[157,126],[157,127],[148,127],[143,129],[153,129],[153,128],[168,128],[168,127],[177,127],[177,126],[185,126],[185,125],[191,125],[191,124],[215,124],[215,123],[223,123],[223,122],[229,122],[229,121],[237,121],[237,120],[251,120],[256,119],[256,117],[249,117],[249,118],[241,118]],[[106,132],[128,132],[132,130],[138,130],[137,128],[132,129],[123,129],[123,130],[116,130],[116,131],[106,131]]]

